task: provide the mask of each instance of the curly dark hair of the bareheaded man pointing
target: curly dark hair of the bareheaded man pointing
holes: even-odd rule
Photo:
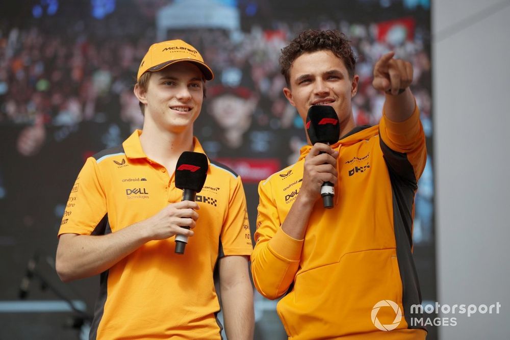
[[[352,79],[356,59],[347,37],[337,30],[307,30],[301,32],[288,46],[282,48],[279,63],[287,86],[290,86],[290,67],[294,60],[304,53],[320,50],[330,50],[335,56],[342,59],[349,72],[349,77]]]

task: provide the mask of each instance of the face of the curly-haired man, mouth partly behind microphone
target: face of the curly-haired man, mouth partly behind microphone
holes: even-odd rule
[[[359,76],[350,79],[342,59],[333,52],[302,54],[292,63],[289,75],[289,87],[284,88],[284,94],[303,122],[312,105],[328,105],[340,120],[340,136],[355,126],[351,99],[358,91]]]

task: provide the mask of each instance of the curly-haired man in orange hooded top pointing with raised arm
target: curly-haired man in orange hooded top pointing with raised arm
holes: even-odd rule
[[[412,257],[414,195],[426,160],[409,62],[382,56],[373,86],[384,91],[375,126],[355,126],[355,58],[338,31],[306,31],[282,50],[285,96],[305,121],[330,106],[340,125],[331,146],[301,148],[299,161],[259,185],[251,271],[291,339],[424,339]],[[334,118],[331,118],[334,119]],[[309,144],[310,138],[309,138]],[[325,209],[321,186],[335,185]]]

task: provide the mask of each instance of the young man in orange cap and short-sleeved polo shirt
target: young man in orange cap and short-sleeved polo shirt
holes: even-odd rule
[[[186,42],[150,46],[134,89],[143,130],[90,157],[71,190],[57,272],[64,281],[101,274],[91,339],[221,338],[216,270],[228,338],[252,337],[252,247],[241,178],[208,160],[197,202],[181,201],[175,188],[181,153],[203,153],[193,122],[212,79]],[[176,235],[190,237],[184,255],[174,252]]]

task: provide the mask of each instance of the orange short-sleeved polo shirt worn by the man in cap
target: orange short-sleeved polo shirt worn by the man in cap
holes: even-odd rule
[[[140,130],[121,146],[87,159],[71,190],[59,230],[116,232],[182,200],[174,176],[147,158]],[[194,151],[203,152],[196,138]],[[150,241],[101,273],[91,339],[219,339],[220,310],[213,272],[225,255],[250,255],[252,245],[241,178],[209,161],[196,195],[195,234],[184,255],[175,237]]]

